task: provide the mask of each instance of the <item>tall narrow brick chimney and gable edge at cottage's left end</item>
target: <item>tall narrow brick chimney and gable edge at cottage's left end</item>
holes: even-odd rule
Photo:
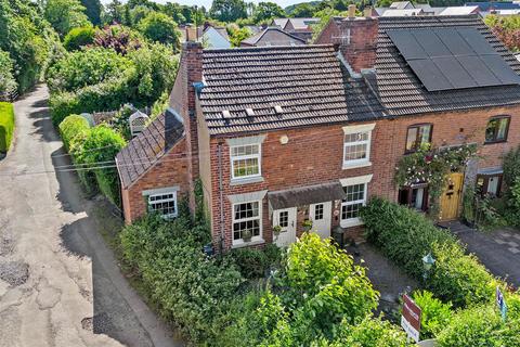
[[[194,181],[199,176],[196,86],[203,81],[203,44],[186,41],[182,46],[179,70],[170,94],[169,106],[183,119],[186,134],[187,174],[190,179],[190,206],[195,206]]]

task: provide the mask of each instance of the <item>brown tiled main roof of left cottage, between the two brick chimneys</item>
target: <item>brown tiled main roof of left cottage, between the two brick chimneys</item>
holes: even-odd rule
[[[199,100],[211,134],[384,117],[377,99],[362,79],[350,78],[333,46],[205,50],[203,74]]]

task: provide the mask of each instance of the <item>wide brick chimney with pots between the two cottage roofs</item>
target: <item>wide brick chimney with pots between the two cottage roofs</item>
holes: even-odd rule
[[[355,5],[349,5],[348,17],[333,17],[315,43],[337,44],[354,73],[360,73],[364,68],[374,68],[378,21],[370,14],[372,10],[365,9],[365,16],[356,17]]]

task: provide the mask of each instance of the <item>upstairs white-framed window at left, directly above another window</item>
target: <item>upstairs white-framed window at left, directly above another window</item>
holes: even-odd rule
[[[232,179],[260,177],[260,143],[235,145],[231,149]]]

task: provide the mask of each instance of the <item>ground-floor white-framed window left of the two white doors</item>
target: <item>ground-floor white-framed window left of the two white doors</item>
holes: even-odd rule
[[[243,242],[246,230],[251,240],[261,236],[261,202],[233,204],[233,242]]]

